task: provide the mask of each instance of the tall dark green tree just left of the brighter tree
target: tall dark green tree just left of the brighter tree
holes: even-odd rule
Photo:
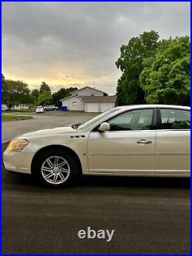
[[[144,59],[154,57],[157,52],[159,35],[157,32],[144,32],[131,38],[127,45],[121,46],[121,56],[116,62],[122,71],[118,79],[118,105],[144,103],[144,90],[139,85],[139,76],[144,69]]]

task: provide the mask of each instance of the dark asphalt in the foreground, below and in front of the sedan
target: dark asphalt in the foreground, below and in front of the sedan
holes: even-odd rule
[[[88,226],[114,237],[79,239]],[[2,253],[190,254],[190,181],[88,177],[54,190],[3,169]]]

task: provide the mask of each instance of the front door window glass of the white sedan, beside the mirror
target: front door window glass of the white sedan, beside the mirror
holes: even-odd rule
[[[118,115],[108,121],[110,131],[136,131],[151,129],[153,109],[140,109]]]

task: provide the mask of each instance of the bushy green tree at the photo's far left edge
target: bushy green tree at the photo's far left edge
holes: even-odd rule
[[[2,103],[7,105],[8,110],[14,105],[29,103],[30,91],[23,81],[6,80],[2,75]]]

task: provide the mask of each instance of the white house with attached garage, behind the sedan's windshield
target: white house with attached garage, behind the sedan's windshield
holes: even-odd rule
[[[62,106],[68,110],[85,112],[104,112],[114,108],[116,95],[104,96],[106,93],[86,86],[71,92],[71,96],[61,99]]]

